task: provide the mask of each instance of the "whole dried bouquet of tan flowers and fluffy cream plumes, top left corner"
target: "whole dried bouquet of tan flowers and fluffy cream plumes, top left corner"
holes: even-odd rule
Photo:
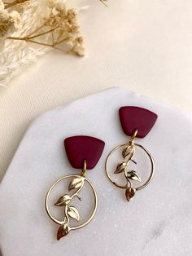
[[[69,3],[69,0],[0,0],[0,86],[5,86],[11,77],[51,47],[85,55],[78,24],[79,11],[85,7],[76,11]]]

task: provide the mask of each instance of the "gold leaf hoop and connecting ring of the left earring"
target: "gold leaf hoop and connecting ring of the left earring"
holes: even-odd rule
[[[55,223],[60,225],[59,230],[58,230],[58,234],[57,234],[57,239],[58,240],[61,237],[66,236],[68,234],[68,232],[70,232],[71,230],[76,230],[76,229],[79,229],[81,227],[85,227],[85,225],[87,225],[94,218],[94,214],[96,213],[96,210],[97,210],[97,207],[98,207],[98,196],[97,196],[97,193],[94,189],[93,184],[88,179],[85,178],[85,170],[86,170],[86,161],[84,161],[83,169],[82,169],[80,175],[63,176],[61,179],[58,179],[57,181],[55,181],[55,183],[53,183],[53,185],[50,187],[50,189],[46,193],[46,200],[45,200],[46,213],[49,215],[49,217]],[[50,209],[49,209],[50,192],[52,191],[53,188],[55,188],[55,186],[59,182],[63,181],[63,179],[71,179],[71,178],[73,178],[73,179],[72,179],[71,183],[69,183],[68,191],[76,189],[76,192],[74,192],[72,194],[72,196],[69,196],[68,194],[65,194],[65,195],[61,196],[59,198],[59,200],[55,203],[56,206],[63,206],[64,207],[63,219],[59,220],[51,214]],[[79,200],[81,200],[81,197],[79,196],[79,192],[81,192],[81,189],[84,187],[85,182],[89,184],[89,187],[91,188],[91,190],[94,194],[94,209],[92,210],[91,214],[89,215],[89,218],[85,221],[85,223],[82,223],[80,225],[76,225],[76,226],[71,227],[71,226],[69,226],[70,218],[74,218],[74,219],[76,219],[76,221],[79,221],[80,214],[79,214],[78,210],[76,209],[76,207],[70,205],[70,203],[72,201],[72,198],[75,197],[75,196]]]

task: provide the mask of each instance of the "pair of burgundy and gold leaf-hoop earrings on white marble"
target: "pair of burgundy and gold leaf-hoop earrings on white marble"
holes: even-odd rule
[[[121,107],[119,110],[119,115],[120,123],[124,130],[124,133],[126,135],[129,135],[130,139],[128,143],[124,143],[120,146],[117,146],[109,153],[105,164],[105,170],[107,173],[107,177],[111,181],[111,183],[116,185],[116,187],[125,190],[126,199],[127,201],[129,201],[134,196],[136,191],[145,188],[146,185],[148,185],[148,183],[151,182],[151,179],[154,174],[155,166],[151,153],[148,152],[148,150],[144,148],[142,145],[134,143],[134,139],[136,137],[144,138],[149,133],[149,131],[155,124],[157,115],[145,108],[133,106]],[[103,142],[103,140],[96,139],[94,137],[80,135],[65,139],[64,146],[68,156],[68,160],[71,163],[72,167],[76,169],[81,169],[81,174],[63,176],[50,187],[49,191],[46,194],[46,212],[55,223],[59,224],[57,240],[59,240],[63,236],[66,236],[68,232],[72,230],[85,227],[85,225],[87,225],[92,220],[92,218],[94,218],[94,214],[97,210],[98,205],[97,193],[94,189],[93,184],[89,181],[89,179],[85,178],[85,174],[86,170],[94,169],[94,167],[97,165],[98,160],[102,156],[105,143]],[[141,148],[142,151],[146,153],[146,156],[149,157],[151,162],[151,173],[148,179],[146,179],[146,181],[142,183],[142,185],[139,187],[133,186],[133,183],[134,181],[141,182],[141,177],[139,176],[139,174],[137,174],[135,170],[129,170],[129,164],[131,162],[136,164],[136,162],[133,160],[136,148]],[[109,171],[109,162],[111,160],[111,156],[118,150],[122,150],[123,161],[116,165],[114,173],[124,174],[124,184],[116,183],[111,178],[111,174]],[[57,187],[56,185],[58,185],[61,182],[68,183],[68,194],[59,196],[59,199],[55,202],[55,206],[63,206],[63,218],[59,219],[54,217],[51,213],[50,194],[53,191],[53,189]],[[75,202],[76,198],[81,201],[80,193],[85,186],[89,187],[93,194],[93,209],[89,214],[89,217],[87,219],[83,219],[83,222],[81,222],[79,225],[71,225],[71,222],[74,223],[74,221],[80,221],[79,211],[76,209],[75,206],[72,205],[72,201]]]

